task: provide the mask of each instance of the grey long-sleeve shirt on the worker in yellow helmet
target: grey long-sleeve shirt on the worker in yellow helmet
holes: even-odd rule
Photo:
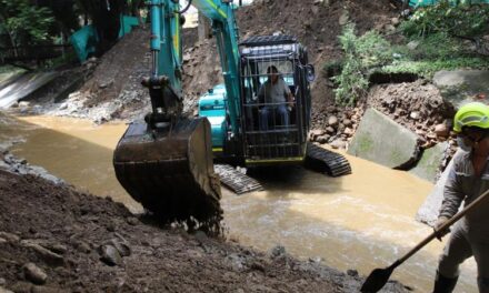
[[[488,158],[489,160],[489,158]],[[486,164],[480,176],[476,176],[470,152],[461,152],[453,158],[443,190],[440,216],[451,218],[461,203],[470,204],[489,189],[489,164]],[[461,226],[471,235],[489,241],[489,200],[475,208],[461,220]]]

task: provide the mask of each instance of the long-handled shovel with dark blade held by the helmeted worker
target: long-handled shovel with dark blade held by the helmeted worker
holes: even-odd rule
[[[421,241],[416,247],[410,250],[408,253],[406,253],[405,256],[397,260],[395,263],[392,263],[390,266],[386,269],[376,269],[373,270],[370,275],[365,281],[363,285],[360,289],[360,292],[362,293],[376,293],[379,290],[386,285],[387,281],[389,281],[390,275],[392,274],[393,270],[401,265],[406,260],[412,256],[412,254],[417,253],[420,249],[422,249],[426,244],[431,242],[431,240],[436,239],[437,235],[440,233],[440,231],[445,231],[449,226],[451,226],[455,222],[460,220],[463,215],[468,214],[473,208],[480,205],[480,203],[486,199],[489,198],[489,190],[482,193],[479,198],[477,198],[473,202],[471,202],[469,205],[467,205],[462,211],[453,215],[450,220],[445,222],[443,225],[441,225],[438,230],[435,230],[433,233],[431,233],[429,236],[427,236],[423,241]]]

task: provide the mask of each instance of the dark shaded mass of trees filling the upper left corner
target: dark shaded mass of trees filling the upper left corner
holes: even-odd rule
[[[120,14],[139,17],[143,4],[142,0],[0,0],[0,61],[39,65],[19,60],[61,54],[53,46],[67,44],[68,38],[89,22],[97,30],[101,54],[118,40]]]

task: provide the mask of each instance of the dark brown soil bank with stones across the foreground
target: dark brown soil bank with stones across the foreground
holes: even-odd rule
[[[362,281],[280,246],[161,230],[110,199],[3,170],[0,260],[1,292],[357,292]]]

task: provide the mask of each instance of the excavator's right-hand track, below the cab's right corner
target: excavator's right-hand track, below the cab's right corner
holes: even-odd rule
[[[308,143],[307,146],[306,166],[321,173],[327,173],[330,176],[351,174],[350,163],[342,154],[331,152],[312,143]]]

